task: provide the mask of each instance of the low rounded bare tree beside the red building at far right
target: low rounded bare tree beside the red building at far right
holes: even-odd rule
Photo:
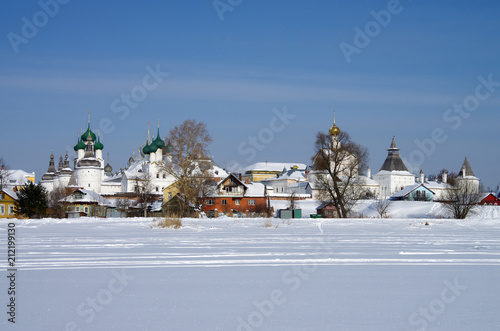
[[[471,181],[457,180],[444,194],[444,206],[455,219],[466,219],[481,202],[481,195]]]

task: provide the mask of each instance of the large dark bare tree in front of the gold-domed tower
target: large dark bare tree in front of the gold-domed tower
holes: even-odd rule
[[[318,133],[313,157],[314,184],[320,199],[333,203],[340,218],[349,217],[356,201],[366,196],[359,173],[367,169],[367,164],[367,149],[351,141],[348,133]]]

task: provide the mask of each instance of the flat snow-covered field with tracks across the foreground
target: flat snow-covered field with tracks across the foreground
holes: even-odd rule
[[[265,222],[15,221],[12,324],[4,221],[0,329],[500,329],[500,218]]]

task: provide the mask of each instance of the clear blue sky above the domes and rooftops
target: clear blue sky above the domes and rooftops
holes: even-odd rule
[[[500,181],[500,87],[478,87],[478,77],[500,82],[497,1],[221,0],[236,5],[224,20],[213,0],[60,0],[57,12],[54,1],[42,1],[53,17],[37,1],[0,11],[0,156],[37,180],[51,149],[73,155],[89,109],[94,131],[106,123],[115,170],[158,117],[162,136],[188,118],[206,122],[222,166],[308,163],[336,109],[341,129],[369,149],[373,172],[396,136],[415,171],[459,171],[467,155],[486,186]],[[371,12],[382,10],[390,21],[377,26]],[[36,35],[23,35],[26,21],[38,23]],[[369,44],[348,63],[340,45],[356,46],[356,28],[368,28]],[[161,82],[148,79],[156,69],[168,73]],[[157,85],[147,95],[145,79]],[[133,91],[134,108],[121,101]],[[473,110],[453,112],[464,101]],[[295,118],[273,132],[273,109]],[[251,157],[249,137],[259,134]]]

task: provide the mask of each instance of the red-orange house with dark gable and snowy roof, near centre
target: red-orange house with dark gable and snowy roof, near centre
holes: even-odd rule
[[[267,210],[266,187],[261,183],[244,183],[231,174],[217,183],[202,203],[202,210],[209,217],[261,216]]]

